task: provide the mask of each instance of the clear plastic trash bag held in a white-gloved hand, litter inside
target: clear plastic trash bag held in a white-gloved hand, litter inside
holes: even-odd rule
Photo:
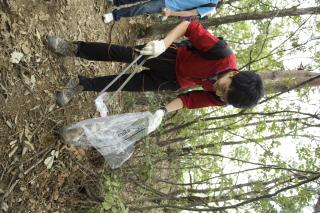
[[[154,131],[162,118],[138,112],[88,119],[64,127],[61,135],[66,143],[96,148],[115,169],[131,157],[135,142]]]

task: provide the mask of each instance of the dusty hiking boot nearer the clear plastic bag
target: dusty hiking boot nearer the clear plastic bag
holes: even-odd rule
[[[56,101],[60,107],[67,105],[72,98],[83,91],[83,86],[79,84],[79,78],[72,78],[62,91],[57,92]]]

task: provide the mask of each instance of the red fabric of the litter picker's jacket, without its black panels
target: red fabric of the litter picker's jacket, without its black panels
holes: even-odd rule
[[[185,36],[196,49],[201,51],[209,50],[219,41],[196,21],[189,24]],[[177,49],[176,77],[180,87],[188,89],[200,85],[204,89],[180,95],[179,98],[181,98],[184,107],[194,109],[225,105],[217,99],[213,83],[207,78],[227,70],[238,70],[234,54],[219,60],[207,60],[186,47],[179,47]]]

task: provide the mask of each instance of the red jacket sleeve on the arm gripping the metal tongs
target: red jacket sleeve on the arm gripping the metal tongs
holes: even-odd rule
[[[185,33],[192,45],[201,51],[209,50],[219,39],[208,32],[199,22],[192,21]]]

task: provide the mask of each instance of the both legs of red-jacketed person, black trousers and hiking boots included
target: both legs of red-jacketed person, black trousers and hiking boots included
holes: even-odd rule
[[[56,42],[57,39],[59,39],[59,42]],[[54,41],[55,42],[48,41],[49,47],[52,51],[59,53],[60,55],[65,55],[62,54],[62,52],[72,47],[72,56],[96,61],[117,61],[130,63],[134,60],[135,57],[138,56],[138,52],[136,52],[135,49],[142,48],[142,46],[124,47],[98,42],[67,42],[60,38],[55,38]],[[58,45],[53,45],[57,43]],[[69,52],[70,51],[67,51],[67,53]],[[144,70],[140,73],[137,73],[123,88],[123,90],[177,90],[179,88],[179,85],[176,82],[175,77],[175,57],[176,50],[174,48],[169,48],[159,57],[148,60],[144,64],[144,66],[149,68],[150,70]],[[141,60],[139,62],[141,62]],[[97,78],[86,78],[79,76],[79,78],[72,79],[68,82],[63,91],[58,92],[57,103],[60,106],[64,106],[74,96],[80,94],[82,91],[101,91],[116,76],[117,75]],[[115,91],[126,80],[127,77],[128,75],[122,76],[108,91]]]

